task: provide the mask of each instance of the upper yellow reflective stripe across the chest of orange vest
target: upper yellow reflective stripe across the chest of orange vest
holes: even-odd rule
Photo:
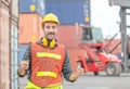
[[[52,58],[52,59],[57,59],[61,60],[61,55],[60,54],[55,54],[55,53],[49,53],[49,52],[37,52],[37,56],[47,56],[47,58]]]

